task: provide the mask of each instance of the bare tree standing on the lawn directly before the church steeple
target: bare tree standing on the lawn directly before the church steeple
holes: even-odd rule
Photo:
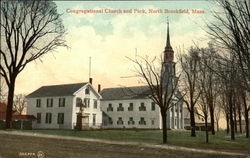
[[[173,74],[172,66],[165,66],[165,62],[149,60],[147,57],[137,56],[129,58],[135,64],[134,72],[150,89],[150,98],[160,107],[162,118],[163,143],[167,143],[167,111],[179,103],[181,96],[177,96],[178,77]],[[158,64],[160,61],[161,64]],[[176,100],[177,99],[177,100]]]

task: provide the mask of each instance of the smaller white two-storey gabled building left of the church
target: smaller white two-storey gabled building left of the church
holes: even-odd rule
[[[95,128],[102,123],[101,96],[89,83],[43,86],[27,99],[27,113],[37,118],[33,128],[74,129],[81,100],[86,105],[87,126]]]

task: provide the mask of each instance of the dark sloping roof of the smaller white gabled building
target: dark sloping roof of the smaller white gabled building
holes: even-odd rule
[[[85,86],[85,83],[74,83],[74,84],[62,84],[62,85],[50,85],[42,86],[34,92],[30,93],[27,98],[35,97],[54,97],[54,96],[71,96],[77,90]]]

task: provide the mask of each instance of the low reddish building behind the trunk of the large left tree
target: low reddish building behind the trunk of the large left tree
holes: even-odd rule
[[[0,129],[5,126],[7,104],[0,102]],[[31,129],[32,122],[36,120],[34,115],[20,115],[15,110],[12,111],[12,127],[14,129]]]

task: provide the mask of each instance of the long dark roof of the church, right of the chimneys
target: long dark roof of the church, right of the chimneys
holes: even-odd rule
[[[100,92],[102,100],[140,99],[150,93],[149,86],[105,88]]]

